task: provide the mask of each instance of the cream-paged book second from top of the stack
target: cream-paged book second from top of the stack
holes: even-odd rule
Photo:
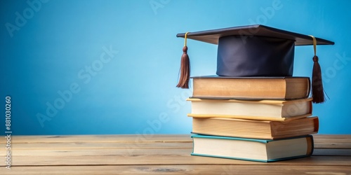
[[[292,120],[312,116],[312,98],[284,100],[187,99],[194,118]]]

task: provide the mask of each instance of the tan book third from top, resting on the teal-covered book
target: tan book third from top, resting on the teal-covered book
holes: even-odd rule
[[[318,130],[318,117],[282,122],[236,118],[192,118],[192,133],[223,137],[282,139],[316,134]]]

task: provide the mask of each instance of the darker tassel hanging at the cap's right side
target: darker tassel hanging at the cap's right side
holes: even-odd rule
[[[317,55],[313,57],[313,71],[312,71],[312,102],[320,104],[325,101],[324,90],[322,83],[321,66],[318,63]]]

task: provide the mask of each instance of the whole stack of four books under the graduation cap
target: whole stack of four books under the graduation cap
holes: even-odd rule
[[[274,162],[312,155],[310,78],[193,78],[192,155]]]

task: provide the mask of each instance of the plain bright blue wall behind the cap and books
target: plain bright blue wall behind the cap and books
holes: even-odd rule
[[[189,134],[192,92],[175,87],[176,34],[253,24],[336,43],[317,47],[330,99],[313,114],[319,133],[351,134],[351,1],[28,2],[0,1],[0,134],[7,95],[16,135]],[[192,76],[215,74],[217,45],[187,45]],[[296,48],[294,76],[311,75],[312,56],[312,46]]]

